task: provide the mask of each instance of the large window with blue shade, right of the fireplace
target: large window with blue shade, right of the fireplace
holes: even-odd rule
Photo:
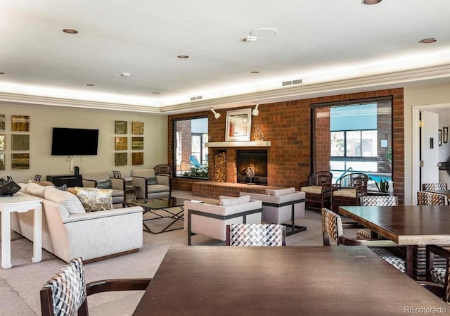
[[[333,182],[352,171],[392,178],[391,97],[314,104],[311,109],[311,171],[330,170]]]

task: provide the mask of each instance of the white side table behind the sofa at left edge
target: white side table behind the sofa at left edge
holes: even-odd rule
[[[13,196],[0,197],[1,212],[1,267],[10,269],[11,265],[11,213],[24,213],[34,210],[33,258],[32,263],[42,260],[42,206],[41,199],[18,192]]]

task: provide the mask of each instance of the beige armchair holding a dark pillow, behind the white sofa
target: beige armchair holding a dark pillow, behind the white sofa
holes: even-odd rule
[[[124,203],[125,201],[125,179],[110,177],[110,172],[84,172],[82,174],[83,187],[112,189],[113,204]]]

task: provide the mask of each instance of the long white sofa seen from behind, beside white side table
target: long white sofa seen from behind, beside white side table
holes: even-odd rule
[[[69,262],[84,262],[138,251],[143,246],[140,206],[86,213],[75,194],[39,184],[20,191],[42,198],[42,247]],[[11,228],[33,240],[33,212],[11,214]]]

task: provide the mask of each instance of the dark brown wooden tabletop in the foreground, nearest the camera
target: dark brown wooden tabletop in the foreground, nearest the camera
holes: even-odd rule
[[[133,316],[442,315],[449,305],[366,247],[169,248]]]

